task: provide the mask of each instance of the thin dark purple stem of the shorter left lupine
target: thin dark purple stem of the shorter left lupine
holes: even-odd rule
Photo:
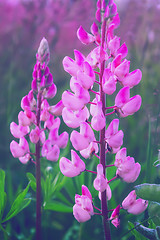
[[[40,126],[41,92],[37,96],[37,126]],[[41,165],[40,165],[40,141],[36,144],[36,240],[41,239]]]

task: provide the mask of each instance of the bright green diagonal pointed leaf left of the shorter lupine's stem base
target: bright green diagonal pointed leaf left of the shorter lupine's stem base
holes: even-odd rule
[[[18,195],[18,197],[13,202],[11,209],[7,216],[2,220],[3,222],[8,221],[9,219],[16,216],[19,212],[21,212],[24,208],[26,208],[29,203],[31,202],[31,199],[24,199],[28,190],[30,187],[30,182],[28,183],[27,187]]]

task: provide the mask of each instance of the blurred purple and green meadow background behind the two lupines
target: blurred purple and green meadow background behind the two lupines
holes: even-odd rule
[[[116,35],[128,46],[127,59],[131,61],[130,70],[140,68],[143,72],[141,83],[132,90],[132,95],[142,96],[142,107],[133,116],[120,120],[125,133],[123,146],[127,147],[128,155],[133,156],[142,165],[140,177],[135,184],[158,183],[160,176],[153,164],[158,159],[160,148],[160,1],[115,2],[121,19]],[[64,89],[69,88],[69,75],[62,67],[64,56],[72,57],[73,49],[78,49],[84,54],[89,52],[88,47],[77,39],[76,30],[82,25],[89,31],[94,20],[95,8],[95,0],[0,0],[0,168],[6,172],[8,207],[18,192],[26,186],[26,172],[34,174],[33,164],[25,166],[12,157],[9,144],[13,137],[9,125],[12,121],[17,122],[20,101],[30,90],[39,43],[45,37],[50,46],[49,67],[58,88],[53,100],[54,105],[60,100]],[[66,129],[65,125],[62,125],[62,128]],[[69,154],[69,150],[67,151],[66,154]],[[90,160],[89,164],[94,168],[92,161]],[[48,165],[52,167],[50,172],[45,170]],[[42,167],[44,178],[47,174],[53,174],[55,177],[59,171],[57,163],[45,162]],[[89,181],[86,176],[83,180],[86,184]],[[82,181],[82,177],[76,181]],[[65,190],[64,185],[61,189],[71,204],[74,202],[74,195],[70,194],[70,189],[74,189],[76,181],[68,180],[66,186],[71,187]],[[110,207],[119,204],[133,190],[133,186],[121,182],[114,184],[115,194],[113,193]],[[80,190],[77,193],[80,194]],[[34,239],[34,192],[31,190],[29,194],[33,197],[31,204],[6,224],[13,240]],[[96,201],[98,202],[97,199]],[[142,221],[144,217],[147,217],[147,213],[136,218],[122,213],[120,229],[112,227],[113,239],[134,239],[131,233],[127,234],[127,222]],[[43,239],[103,239],[100,217],[93,217],[86,224],[78,224],[72,213],[45,211],[42,224]],[[0,235],[3,236],[2,233]]]

